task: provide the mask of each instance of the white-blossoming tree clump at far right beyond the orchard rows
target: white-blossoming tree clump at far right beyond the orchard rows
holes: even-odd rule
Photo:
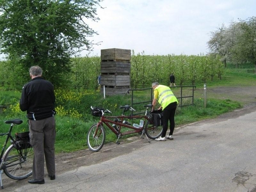
[[[207,42],[210,53],[218,54],[224,62],[230,61],[239,65],[249,62],[254,65],[256,73],[256,17],[249,17],[239,22],[230,22],[228,27],[222,25],[210,32]]]

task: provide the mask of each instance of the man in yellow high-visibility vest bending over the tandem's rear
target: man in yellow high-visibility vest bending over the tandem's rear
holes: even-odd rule
[[[161,85],[158,82],[152,83],[152,89],[154,90],[154,99],[152,102],[152,111],[154,110],[157,101],[160,103],[160,108],[163,108],[163,132],[162,135],[155,139],[156,141],[165,141],[166,138],[173,140],[172,134],[175,128],[175,111],[177,108],[178,100],[175,95],[172,93],[170,87]],[[170,133],[166,136],[168,129],[168,122],[170,122]]]

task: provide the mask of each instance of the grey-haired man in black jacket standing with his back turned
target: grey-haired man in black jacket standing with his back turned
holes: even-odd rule
[[[22,88],[20,110],[27,112],[29,138],[34,150],[33,179],[29,183],[44,184],[44,156],[50,180],[55,179],[55,95],[51,82],[41,76],[39,66],[29,69],[31,81]]]

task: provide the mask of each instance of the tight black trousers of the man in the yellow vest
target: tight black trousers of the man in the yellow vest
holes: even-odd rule
[[[166,131],[168,129],[168,121],[170,122],[170,134],[173,134],[174,128],[175,128],[175,111],[177,108],[177,102],[170,103],[167,105],[166,108],[163,110],[163,133],[161,137],[166,137]]]

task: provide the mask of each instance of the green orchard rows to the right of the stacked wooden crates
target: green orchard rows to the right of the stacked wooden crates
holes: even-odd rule
[[[153,81],[169,85],[174,73],[178,85],[194,85],[196,81],[221,78],[223,65],[216,55],[144,55],[131,57],[131,87],[145,88]]]

